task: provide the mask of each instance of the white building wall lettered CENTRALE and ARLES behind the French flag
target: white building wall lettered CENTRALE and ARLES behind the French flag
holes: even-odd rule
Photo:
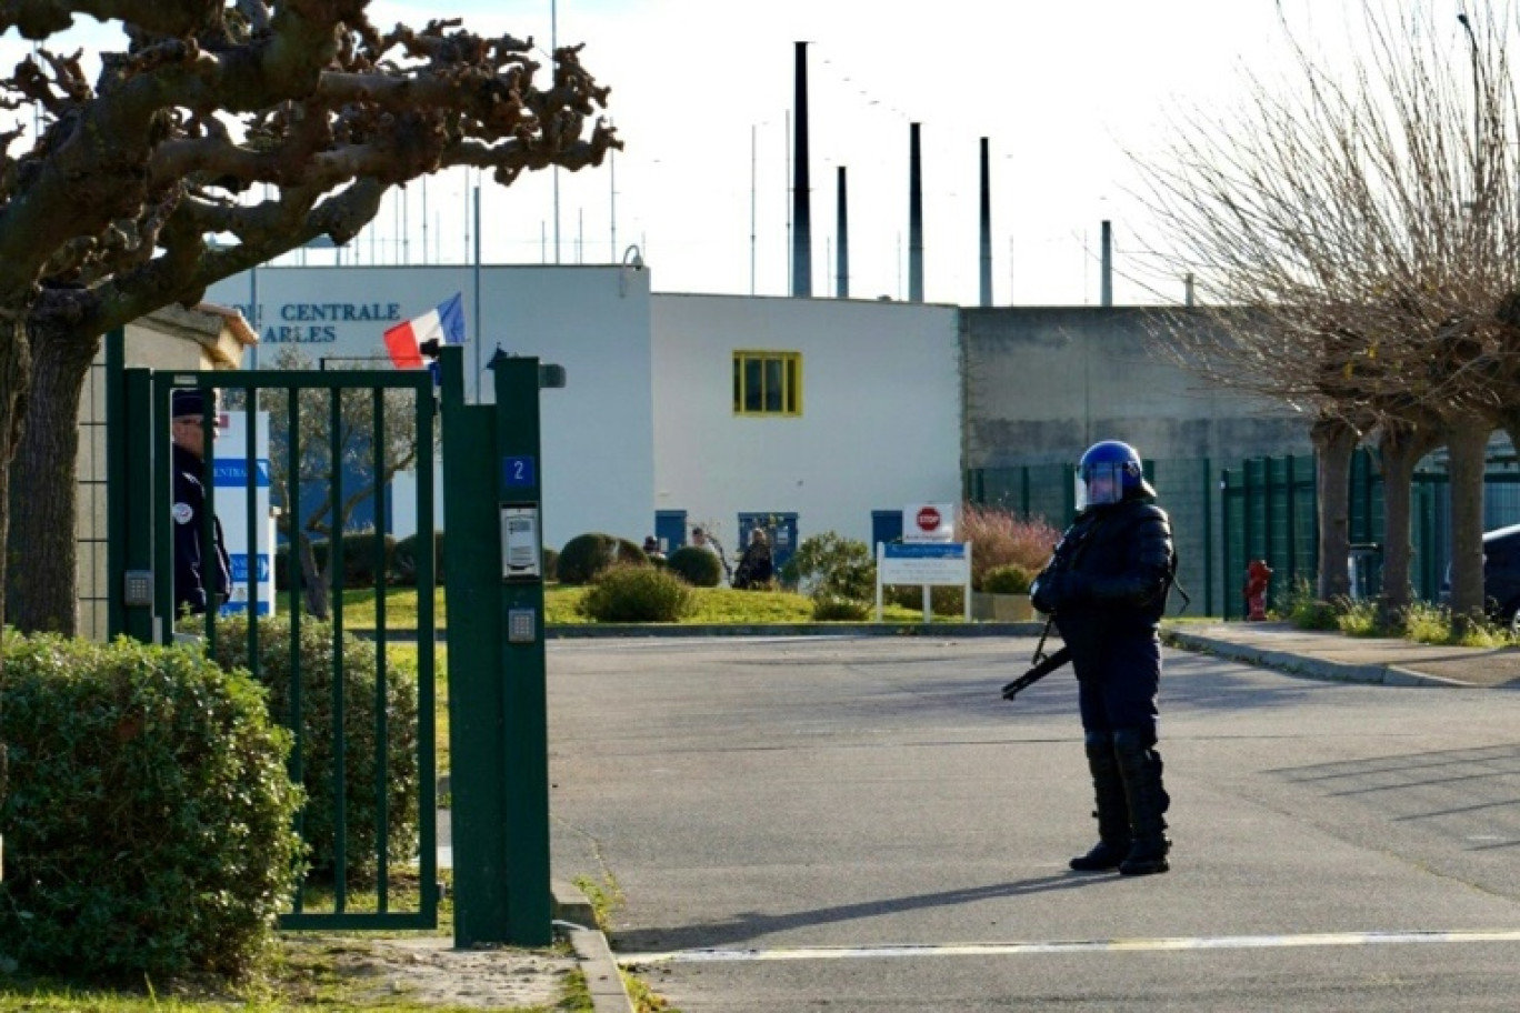
[[[313,360],[374,357],[374,368],[388,369],[385,330],[454,292],[464,293],[468,396],[476,392],[477,363],[489,361],[499,345],[567,372],[562,390],[543,392],[544,544],[559,547],[584,532],[641,539],[654,530],[649,272],[619,266],[482,267],[479,330],[474,278],[470,266],[459,264],[263,267],[257,317],[251,275],[214,286],[207,298],[257,319],[263,366],[299,339],[295,343]],[[334,313],[327,308],[331,305],[353,308]],[[382,319],[342,319],[365,311]],[[491,375],[480,375],[485,401],[492,399]],[[395,497],[394,527],[401,535],[415,530],[404,488],[398,486]]]

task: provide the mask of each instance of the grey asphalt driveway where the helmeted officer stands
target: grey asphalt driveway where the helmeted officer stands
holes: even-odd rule
[[[550,645],[555,875],[686,1013],[1512,1010],[1520,696],[1166,658],[1173,872],[1091,843],[1031,639]]]

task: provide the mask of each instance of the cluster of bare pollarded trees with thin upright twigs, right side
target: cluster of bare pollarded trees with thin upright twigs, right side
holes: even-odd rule
[[[1468,47],[1455,23],[1406,8],[1363,0],[1348,64],[1287,32],[1290,88],[1251,79],[1239,117],[1186,115],[1143,169],[1176,251],[1167,272],[1195,275],[1230,333],[1173,325],[1161,346],[1216,383],[1310,410],[1336,469],[1350,433],[1379,433],[1395,609],[1411,594],[1409,475],[1444,442],[1465,618],[1482,611],[1484,447],[1520,375],[1520,331],[1500,313],[1520,292],[1517,26],[1508,6],[1471,3]],[[1327,469],[1321,495],[1344,483]],[[1321,591],[1335,591],[1325,566],[1344,553],[1325,550]]]

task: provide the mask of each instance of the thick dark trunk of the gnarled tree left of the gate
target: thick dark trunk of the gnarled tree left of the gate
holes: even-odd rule
[[[79,632],[78,506],[79,395],[100,339],[33,334],[32,396],[11,462],[12,559],[9,621],[23,632]]]

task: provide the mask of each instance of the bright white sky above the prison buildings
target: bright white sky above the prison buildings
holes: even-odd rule
[[[1397,0],[1388,0],[1397,2]],[[1404,0],[1408,3],[1408,0]],[[1452,8],[1452,44],[1461,46]],[[375,0],[372,21],[448,15],[485,35],[584,44],[626,144],[600,167],[480,185],[483,263],[617,263],[638,248],[655,292],[786,295],[789,117],[806,41],[813,295],[836,295],[838,169],[848,181],[851,298],[907,295],[909,131],[921,125],[924,296],[979,298],[979,144],[991,163],[993,302],[1084,305],[1113,223],[1114,301],[1175,302],[1148,252],[1140,163],[1178,120],[1228,115],[1245,73],[1344,33],[1360,0]],[[1439,23],[1439,21],[1438,21]],[[0,56],[17,49],[14,33]],[[467,263],[471,190],[453,172],[382,208],[345,263]],[[331,254],[301,254],[330,263]]]

